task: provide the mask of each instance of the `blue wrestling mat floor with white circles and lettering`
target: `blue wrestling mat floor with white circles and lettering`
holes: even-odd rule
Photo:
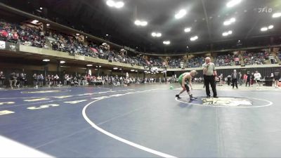
[[[217,87],[2,90],[0,157],[281,157],[280,89]]]

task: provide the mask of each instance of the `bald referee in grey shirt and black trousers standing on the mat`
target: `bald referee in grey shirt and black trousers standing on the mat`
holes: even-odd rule
[[[205,58],[205,63],[202,65],[203,74],[204,74],[204,85],[206,87],[207,98],[210,98],[210,87],[214,93],[214,98],[218,98],[216,93],[216,67],[213,62],[211,62],[211,58]]]

